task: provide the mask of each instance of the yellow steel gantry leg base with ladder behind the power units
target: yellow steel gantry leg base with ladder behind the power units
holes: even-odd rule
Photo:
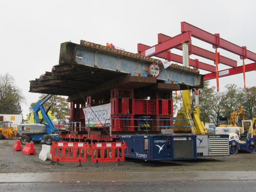
[[[196,107],[191,108],[190,90],[182,91],[182,109],[178,112],[176,119],[183,119],[182,121],[175,121],[174,132],[192,132],[193,134],[206,134],[207,130],[204,123],[200,120],[200,107],[198,97],[196,97]]]

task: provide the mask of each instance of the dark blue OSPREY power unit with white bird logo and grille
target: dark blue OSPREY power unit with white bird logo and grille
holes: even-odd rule
[[[196,135],[120,135],[125,157],[148,161],[196,159]]]

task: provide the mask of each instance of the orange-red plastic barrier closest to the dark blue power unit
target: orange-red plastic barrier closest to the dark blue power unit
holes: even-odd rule
[[[128,153],[125,142],[92,143],[92,163],[124,161],[124,149],[127,149]]]

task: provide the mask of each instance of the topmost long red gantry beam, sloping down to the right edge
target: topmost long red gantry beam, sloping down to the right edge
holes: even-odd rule
[[[246,56],[245,49],[243,47],[240,47],[240,46],[233,44],[229,41],[226,41],[222,38],[219,38],[219,42],[218,42],[218,37],[216,35],[213,35],[207,31],[204,31],[204,30],[197,28],[193,25],[190,25],[187,22],[184,22],[184,21],[181,22],[181,32],[187,33],[188,31],[191,32],[192,37],[195,37],[197,39],[200,39],[200,40],[202,40],[206,43],[212,44],[212,45],[219,45],[220,48],[222,48],[226,51],[232,52],[241,57]],[[256,53],[253,53],[249,50],[247,50],[246,52],[247,52],[247,59],[256,62]]]

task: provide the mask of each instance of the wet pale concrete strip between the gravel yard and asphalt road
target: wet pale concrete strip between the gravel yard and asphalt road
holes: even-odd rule
[[[0,183],[256,180],[255,171],[0,173]]]

